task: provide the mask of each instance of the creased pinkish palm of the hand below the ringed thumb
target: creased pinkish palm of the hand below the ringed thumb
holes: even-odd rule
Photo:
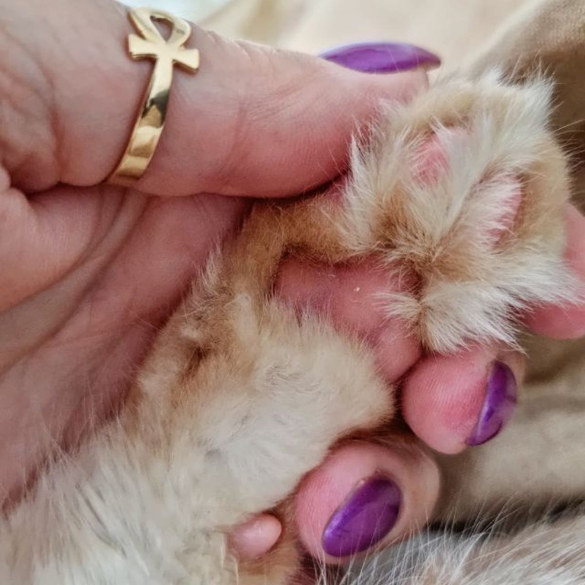
[[[56,187],[1,199],[0,465],[13,488],[53,442],[104,417],[238,198]],[[64,435],[65,433],[65,435]]]

